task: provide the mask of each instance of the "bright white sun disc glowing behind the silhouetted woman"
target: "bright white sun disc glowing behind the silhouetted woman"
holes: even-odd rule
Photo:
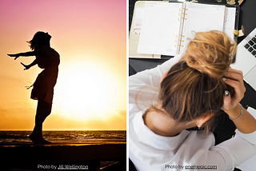
[[[118,101],[111,95],[117,88],[114,77],[97,63],[73,64],[58,79],[54,97],[66,113],[86,117],[93,112],[103,117]]]

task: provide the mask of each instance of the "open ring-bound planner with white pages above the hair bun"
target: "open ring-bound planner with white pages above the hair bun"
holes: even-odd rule
[[[186,51],[194,32],[221,30],[234,39],[238,28],[238,6],[146,2],[143,10],[135,10],[141,10],[142,18],[138,54],[174,56]]]

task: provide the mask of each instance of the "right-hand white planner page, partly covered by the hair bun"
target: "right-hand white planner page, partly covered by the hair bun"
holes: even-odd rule
[[[226,6],[187,2],[186,9],[186,19],[184,20],[182,32],[182,35],[184,35],[185,38],[183,39],[184,42],[182,45],[183,47],[181,47],[181,53],[186,51],[186,46],[189,43],[187,38],[193,38],[192,31],[223,31]]]

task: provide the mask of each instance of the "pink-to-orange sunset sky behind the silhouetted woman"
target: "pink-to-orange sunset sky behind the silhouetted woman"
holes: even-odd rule
[[[0,130],[34,128],[37,101],[25,86],[41,69],[6,54],[30,51],[39,30],[61,56],[43,129],[126,129],[126,0],[1,0],[0,23]]]

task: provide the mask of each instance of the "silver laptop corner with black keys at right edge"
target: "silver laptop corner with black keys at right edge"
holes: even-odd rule
[[[237,46],[231,68],[242,70],[244,81],[256,90],[256,28]]]

